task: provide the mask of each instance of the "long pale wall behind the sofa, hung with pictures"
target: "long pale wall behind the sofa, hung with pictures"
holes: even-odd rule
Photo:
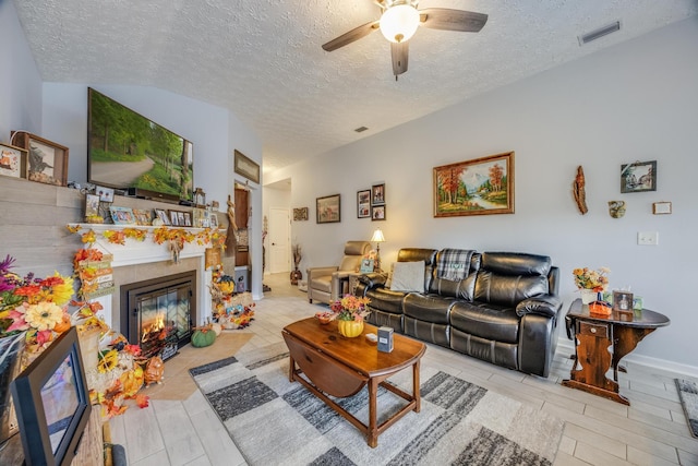
[[[376,226],[387,240],[386,266],[401,247],[547,254],[561,267],[565,311],[578,297],[571,270],[609,266],[612,287],[630,285],[646,308],[672,320],[636,355],[698,372],[696,44],[693,17],[267,179],[291,178],[291,204],[310,207],[311,222],[293,223],[305,266],[338,262],[346,240],[370,239]],[[507,151],[516,153],[514,215],[433,217],[433,167]],[[657,192],[621,194],[621,165],[636,160],[658,162]],[[583,216],[571,196],[578,165],[587,178]],[[357,191],[382,181],[386,222],[357,219]],[[316,225],[315,199],[335,193],[341,223]],[[611,200],[626,201],[624,218],[610,217]],[[671,201],[674,213],[652,215],[657,201]],[[637,246],[638,231],[659,231],[659,246]]]

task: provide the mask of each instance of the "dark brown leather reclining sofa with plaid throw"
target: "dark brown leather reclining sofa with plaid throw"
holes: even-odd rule
[[[354,294],[371,299],[369,323],[497,366],[547,377],[562,300],[559,270],[545,255],[406,248],[398,264],[423,261],[423,290],[360,277]],[[407,264],[395,264],[397,267]],[[417,264],[410,264],[414,267]],[[394,289],[390,289],[393,287]]]

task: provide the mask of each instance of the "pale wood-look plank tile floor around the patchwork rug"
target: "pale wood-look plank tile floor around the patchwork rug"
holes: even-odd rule
[[[241,331],[254,336],[240,353],[280,342],[285,325],[317,309],[289,285],[288,274],[266,276],[265,283],[272,292],[257,302],[253,325]],[[279,306],[279,298],[288,297],[299,299],[284,299]],[[627,365],[628,373],[619,374],[622,393],[631,403],[627,407],[562,386],[571,367],[568,356],[558,350],[549,379],[433,345],[424,358],[454,365],[470,382],[563,418],[565,431],[555,465],[698,465],[698,439],[688,432],[674,385],[674,378],[685,374]],[[698,375],[691,380],[698,381]],[[129,409],[110,426],[112,441],[125,446],[132,466],[246,464],[198,391],[184,402],[156,399],[146,409]],[[284,465],[284,458],[278,464]]]

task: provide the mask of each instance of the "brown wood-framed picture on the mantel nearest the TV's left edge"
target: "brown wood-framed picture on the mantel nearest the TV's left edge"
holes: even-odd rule
[[[27,151],[27,179],[68,186],[68,147],[26,131],[12,131],[11,141]]]

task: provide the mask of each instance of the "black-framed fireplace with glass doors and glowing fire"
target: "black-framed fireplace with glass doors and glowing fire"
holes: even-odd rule
[[[195,290],[196,271],[122,285],[121,333],[144,357],[171,358],[191,340]]]

